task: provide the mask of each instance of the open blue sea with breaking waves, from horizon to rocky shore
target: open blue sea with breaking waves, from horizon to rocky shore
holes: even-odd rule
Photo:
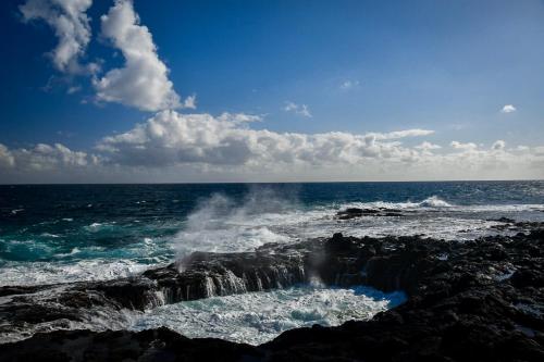
[[[418,212],[360,225],[331,221],[353,204]],[[234,251],[336,228],[444,236],[437,220],[475,230],[495,216],[541,220],[543,205],[542,180],[0,186],[0,277],[113,277],[166,263],[188,245]]]

